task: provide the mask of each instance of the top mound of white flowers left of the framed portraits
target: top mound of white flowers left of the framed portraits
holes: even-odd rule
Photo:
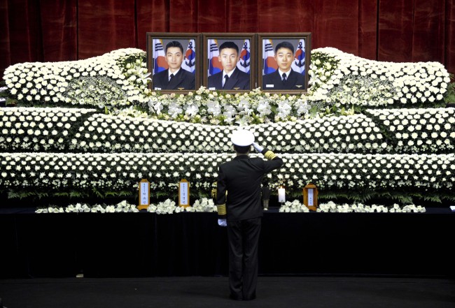
[[[127,48],[79,61],[20,63],[6,68],[10,94],[25,103],[130,105],[146,103],[146,52]]]

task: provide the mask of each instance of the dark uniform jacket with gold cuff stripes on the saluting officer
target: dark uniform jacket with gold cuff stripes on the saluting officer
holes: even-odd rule
[[[283,164],[283,161],[268,149],[264,149],[262,154],[269,160],[239,155],[219,167],[216,187],[218,218],[239,221],[262,217],[260,201],[262,177]],[[223,205],[225,211],[224,209],[220,211]]]

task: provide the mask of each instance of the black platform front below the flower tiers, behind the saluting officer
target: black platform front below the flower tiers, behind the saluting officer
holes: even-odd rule
[[[265,212],[259,274],[454,277],[455,213]],[[0,209],[0,278],[225,276],[216,213]]]

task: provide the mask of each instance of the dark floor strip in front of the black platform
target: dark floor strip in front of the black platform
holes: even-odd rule
[[[455,307],[455,279],[259,277],[258,298],[228,298],[227,277],[3,279],[6,308]]]

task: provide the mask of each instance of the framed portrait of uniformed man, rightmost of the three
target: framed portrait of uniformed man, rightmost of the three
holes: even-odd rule
[[[311,33],[258,34],[258,87],[265,92],[307,91]]]

